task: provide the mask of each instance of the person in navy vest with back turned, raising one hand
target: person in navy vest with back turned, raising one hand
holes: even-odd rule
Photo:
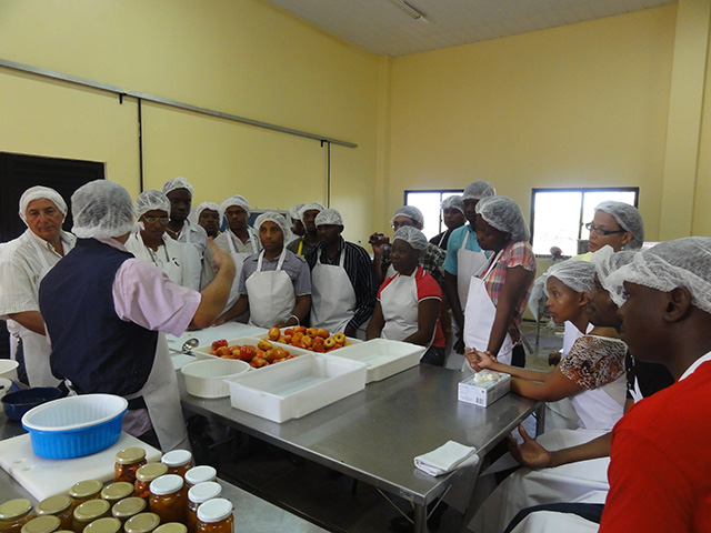
[[[163,451],[189,447],[167,331],[207,328],[224,308],[234,264],[213,248],[218,272],[197,292],[136,259],[123,243],[134,223],[133,202],[118,183],[97,180],[71,198],[77,245],[42,280],[40,311],[52,341],[52,373],[78,394],[129,400],[123,430]]]

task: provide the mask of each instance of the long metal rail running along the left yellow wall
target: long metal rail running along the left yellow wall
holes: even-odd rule
[[[182,103],[176,100],[169,100],[167,98],[154,97],[151,94],[146,94],[143,92],[138,91],[127,91],[121,89],[120,87],[110,86],[108,83],[99,83],[98,81],[86,80],[83,78],[77,78],[74,76],[62,74],[61,72],[54,72],[52,70],[47,69],[38,69],[37,67],[31,67],[29,64],[16,63],[14,61],[8,61],[6,59],[0,59],[0,67],[6,67],[12,70],[19,70],[22,72],[30,72],[32,74],[42,76],[46,78],[51,78],[54,80],[67,81],[69,83],[74,83],[83,87],[91,87],[93,89],[99,89],[101,91],[112,92],[119,94],[120,97],[133,97],[139,100],[144,100],[149,102],[156,102],[163,105],[169,105],[171,108],[184,109],[187,111],[192,111],[200,114],[208,114],[210,117],[218,117],[220,119],[231,120],[234,122],[240,122],[242,124],[249,124],[257,128],[263,128],[267,130],[279,131],[281,133],[287,133],[290,135],[303,137],[307,139],[312,139],[314,141],[319,141],[321,143],[328,142],[331,144],[338,144],[346,148],[358,148],[358,144],[348,141],[341,141],[339,139],[332,139],[330,137],[317,135],[316,133],[309,133],[308,131],[294,130],[292,128],[286,128],[283,125],[271,124],[269,122],[262,122],[259,120],[248,119],[246,117],[239,117],[237,114],[223,113],[222,111],[216,111],[213,109],[199,108],[197,105],[192,105],[190,103]]]

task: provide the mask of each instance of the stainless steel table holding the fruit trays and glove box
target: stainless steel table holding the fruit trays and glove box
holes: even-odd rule
[[[415,531],[427,531],[427,504],[459,472],[433,477],[413,459],[447,441],[475,446],[481,457],[538,406],[507,394],[488,408],[459,402],[461,372],[420,364],[302,419],[276,423],[232,409],[230,399],[188,394],[179,373],[183,406],[217,422],[409,500]]]

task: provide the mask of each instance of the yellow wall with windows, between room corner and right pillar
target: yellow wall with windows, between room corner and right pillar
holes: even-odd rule
[[[640,187],[654,239],[675,6],[393,60],[390,208],[404,189]]]

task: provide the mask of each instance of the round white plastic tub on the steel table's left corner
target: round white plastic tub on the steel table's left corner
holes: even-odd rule
[[[226,378],[248,372],[249,363],[236,359],[213,358],[186,364],[180,371],[186,376],[186,390],[198,398],[227,398],[230,389]]]

